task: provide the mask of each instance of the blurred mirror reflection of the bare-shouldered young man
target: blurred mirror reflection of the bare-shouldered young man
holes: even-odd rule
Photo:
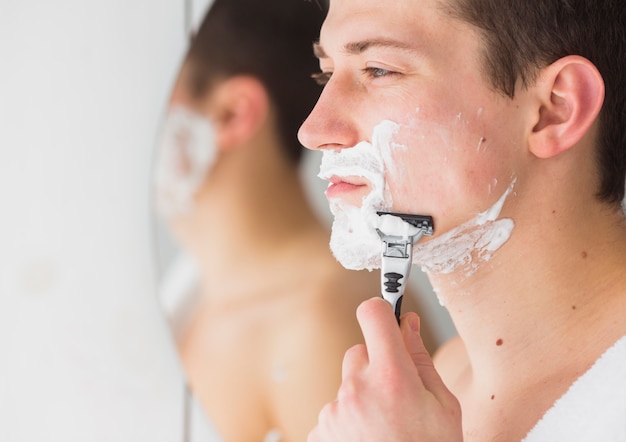
[[[344,352],[363,341],[354,311],[378,293],[378,273],[333,258],[300,181],[324,12],[216,0],[171,97],[158,196],[198,278],[174,325],[191,390],[225,441],[304,440],[337,393]]]

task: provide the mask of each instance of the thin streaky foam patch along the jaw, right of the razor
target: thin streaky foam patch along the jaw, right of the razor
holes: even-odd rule
[[[429,273],[448,274],[463,269],[465,277],[473,275],[511,237],[513,220],[498,216],[514,185],[515,181],[490,209],[431,241],[418,244],[413,263]]]

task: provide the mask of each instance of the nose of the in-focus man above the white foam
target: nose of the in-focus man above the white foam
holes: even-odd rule
[[[333,75],[315,107],[300,126],[298,139],[308,149],[343,149],[355,146],[359,131],[356,97]]]

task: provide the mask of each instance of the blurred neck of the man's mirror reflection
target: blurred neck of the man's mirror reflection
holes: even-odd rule
[[[266,280],[264,275],[276,274],[268,270],[303,239],[328,242],[297,167],[267,151],[253,160],[248,157],[220,158],[194,210],[176,222],[177,236],[198,261],[209,293],[248,291],[233,281],[226,287],[220,282],[224,275],[236,275],[240,284]]]

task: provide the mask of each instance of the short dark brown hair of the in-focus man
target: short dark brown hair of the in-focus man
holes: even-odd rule
[[[531,85],[538,70],[579,55],[600,71],[606,88],[600,113],[598,197],[624,198],[626,177],[626,1],[444,0],[456,18],[484,38],[485,74],[509,97],[518,81]]]

